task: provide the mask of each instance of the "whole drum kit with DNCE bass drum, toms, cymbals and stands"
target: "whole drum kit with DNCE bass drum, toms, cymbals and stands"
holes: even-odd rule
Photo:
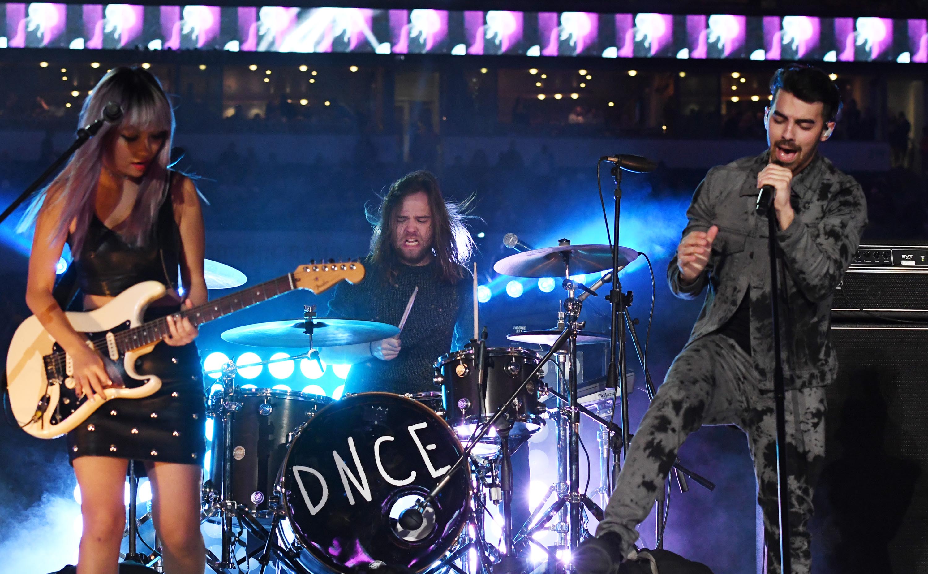
[[[617,250],[619,268],[638,257],[634,250]],[[262,573],[273,565],[276,572],[294,574],[378,567],[511,574],[532,571],[527,557],[534,544],[548,555],[548,565],[539,568],[570,568],[565,553],[589,535],[584,509],[602,518],[599,505],[580,490],[580,415],[599,424],[601,485],[594,496],[601,494],[601,502],[608,500],[623,444],[620,425],[603,418],[611,418],[622,393],[604,388],[605,377],[585,388],[577,380],[577,346],[610,342],[609,335],[583,331],[580,313],[586,297],[611,279],[604,270],[612,268],[612,249],[562,240],[557,247],[505,257],[494,268],[502,275],[565,278],[567,297],[556,328],[508,336],[514,343],[547,346],[544,356],[522,346],[487,347],[484,327],[480,339],[435,361],[434,391],[368,392],[339,400],[240,387],[234,362],[223,366],[222,388],[209,397],[207,411],[214,438],[202,518],[222,530],[220,552],[207,551],[208,567],[237,572],[253,559]],[[570,279],[599,272],[603,278],[590,287]],[[628,326],[634,333],[630,320]],[[305,307],[303,320],[246,325],[222,338],[243,346],[308,349],[258,365],[314,360],[319,347],[396,333],[396,326],[375,321],[317,318],[315,308]],[[637,346],[637,337],[633,342]],[[546,363],[557,372],[551,384],[543,379]],[[620,377],[626,391],[632,377]],[[557,483],[524,526],[513,525],[510,454],[546,424],[557,431]],[[682,466],[676,470],[694,476]],[[677,478],[684,488],[683,477]],[[485,537],[488,501],[502,518],[498,549]],[[543,529],[557,533],[556,545],[535,540]]]

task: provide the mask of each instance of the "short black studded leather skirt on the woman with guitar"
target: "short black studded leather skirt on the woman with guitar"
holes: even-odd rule
[[[197,345],[159,343],[135,361],[139,374],[161,378],[146,398],[113,398],[68,433],[68,455],[202,464],[206,401]]]

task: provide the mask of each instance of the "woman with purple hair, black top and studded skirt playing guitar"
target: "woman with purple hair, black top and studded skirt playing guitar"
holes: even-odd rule
[[[186,176],[168,169],[174,112],[161,83],[145,70],[116,68],[84,102],[80,124],[115,102],[118,124],[104,126],[45,189],[35,215],[26,304],[71,355],[78,395],[104,400],[112,385],[97,351],[71,328],[52,296],[64,244],[71,247],[84,310],[101,307],[144,280],[168,293],[146,320],[206,302],[200,198]],[[33,210],[33,213],[35,211]],[[179,291],[177,271],[183,291]],[[136,371],[157,374],[147,398],[114,398],[68,433],[68,454],[81,487],[84,531],[79,574],[116,574],[125,523],[127,463],[144,462],[153,491],[164,569],[202,574],[200,469],[205,422],[197,336],[186,318],[168,317],[170,335],[138,359]]]

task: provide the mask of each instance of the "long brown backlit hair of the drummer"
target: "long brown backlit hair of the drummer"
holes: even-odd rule
[[[370,238],[368,259],[386,270],[386,279],[396,279],[399,255],[393,247],[393,228],[396,225],[396,210],[407,195],[424,191],[432,209],[432,253],[435,254],[436,273],[439,280],[454,283],[467,277],[467,262],[473,253],[474,243],[470,231],[464,224],[470,216],[473,196],[456,203],[445,201],[438,179],[432,172],[419,170],[402,176],[391,184],[383,196],[380,206],[366,209],[367,221],[374,226]]]

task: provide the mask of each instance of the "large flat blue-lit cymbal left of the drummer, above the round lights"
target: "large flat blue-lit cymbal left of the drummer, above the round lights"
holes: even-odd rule
[[[303,333],[305,321],[275,320],[242,325],[222,334],[223,340],[236,345],[270,346],[278,348],[309,348],[309,335]],[[400,330],[372,320],[315,319],[313,346],[341,346],[380,341]]]

